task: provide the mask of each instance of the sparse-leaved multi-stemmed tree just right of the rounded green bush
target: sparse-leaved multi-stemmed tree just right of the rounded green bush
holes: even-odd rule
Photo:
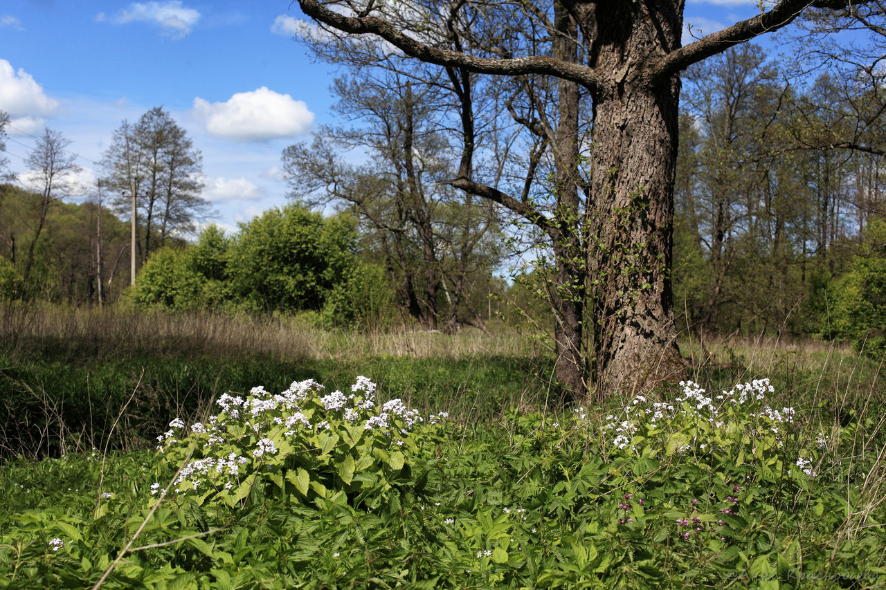
[[[400,309],[424,329],[485,329],[470,287],[498,258],[498,215],[444,182],[455,172],[439,129],[444,93],[384,68],[339,78],[333,92],[337,112],[362,124],[323,128],[312,145],[284,150],[291,196],[357,213],[364,244],[380,254]],[[336,148],[368,151],[369,162],[348,164]]]

